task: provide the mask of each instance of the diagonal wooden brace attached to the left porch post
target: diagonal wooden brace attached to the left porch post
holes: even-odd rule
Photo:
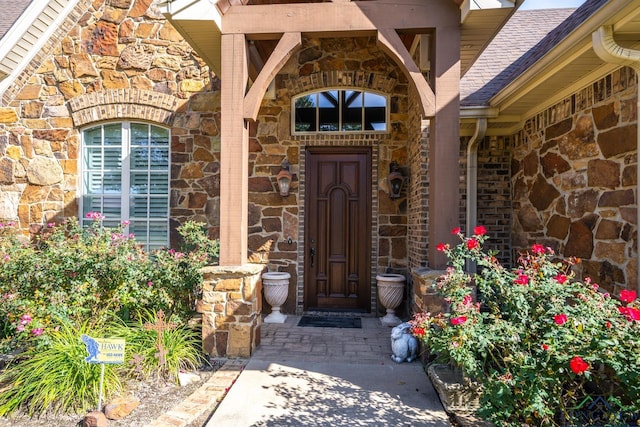
[[[260,103],[264,97],[269,83],[274,79],[280,69],[287,63],[291,55],[302,45],[300,33],[284,33],[275,50],[267,59],[258,78],[253,82],[249,93],[244,99],[244,118],[256,120]]]

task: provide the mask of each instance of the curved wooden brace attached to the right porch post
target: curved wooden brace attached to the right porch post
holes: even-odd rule
[[[395,30],[390,28],[382,28],[378,30],[378,46],[398,64],[398,67],[407,76],[412,83],[420,103],[422,104],[422,114],[424,117],[433,117],[435,115],[435,96],[433,90],[424,78],[424,75],[418,68],[411,54],[402,43],[400,36]]]

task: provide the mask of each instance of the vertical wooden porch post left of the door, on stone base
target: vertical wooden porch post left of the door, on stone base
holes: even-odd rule
[[[244,35],[222,36],[220,265],[247,262],[249,133],[243,115],[247,56]]]

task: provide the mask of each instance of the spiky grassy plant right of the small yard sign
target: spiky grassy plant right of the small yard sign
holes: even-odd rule
[[[124,338],[125,363],[129,377],[178,382],[181,370],[194,370],[203,362],[202,338],[198,330],[164,313],[141,311],[133,321],[119,321],[110,327],[113,336]]]

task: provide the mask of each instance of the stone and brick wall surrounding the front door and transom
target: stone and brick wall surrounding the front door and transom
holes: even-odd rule
[[[291,100],[306,91],[355,87],[390,95],[390,132],[291,134]],[[389,163],[407,165],[407,82],[376,46],[374,37],[303,38],[303,46],[276,77],[275,99],[265,99],[251,129],[249,250],[251,261],[291,274],[283,311],[302,312],[304,298],[304,153],[306,146],[373,148],[372,283],[378,271],[406,272],[406,201],[391,201]],[[278,194],[275,176],[284,160],[294,180],[290,195]],[[292,243],[288,242],[291,237]],[[376,307],[375,287],[372,307]]]

